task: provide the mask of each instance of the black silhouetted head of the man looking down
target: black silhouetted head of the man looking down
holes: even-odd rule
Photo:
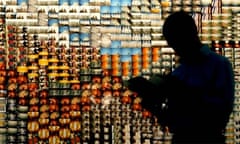
[[[198,52],[201,45],[195,21],[184,11],[175,12],[166,18],[163,36],[168,45],[181,57]]]

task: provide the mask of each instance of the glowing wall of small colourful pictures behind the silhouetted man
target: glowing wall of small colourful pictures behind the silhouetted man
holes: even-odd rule
[[[183,9],[239,71],[238,0],[1,0],[2,143],[161,143],[167,128],[123,86],[174,69],[164,19]],[[239,76],[227,143],[238,143]]]

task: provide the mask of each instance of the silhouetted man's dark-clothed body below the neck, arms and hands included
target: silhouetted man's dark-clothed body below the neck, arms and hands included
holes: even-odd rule
[[[230,62],[204,47],[204,59],[184,63],[170,75],[129,80],[142,105],[176,139],[214,142],[229,120],[234,100],[234,76]],[[167,101],[167,108],[162,104]],[[179,140],[179,141],[180,141]]]

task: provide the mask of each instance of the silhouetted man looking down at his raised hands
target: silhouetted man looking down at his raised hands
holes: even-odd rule
[[[132,78],[129,89],[142,97],[143,107],[157,116],[160,124],[170,128],[173,143],[224,144],[234,100],[231,63],[201,43],[188,13],[171,14],[163,25],[163,35],[180,56],[180,66],[167,76]],[[164,101],[165,112],[161,107]]]

